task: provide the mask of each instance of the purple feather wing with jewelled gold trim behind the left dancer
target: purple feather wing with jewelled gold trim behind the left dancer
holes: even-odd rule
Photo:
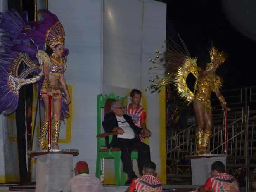
[[[22,16],[15,10],[0,13],[0,114],[7,109],[6,115],[15,111],[21,86],[40,79],[40,76],[35,79],[26,78],[29,73],[40,69],[40,65],[34,62],[37,61],[36,46],[31,45],[30,40],[18,38],[22,28],[27,26],[27,22],[26,12]],[[24,48],[27,48],[26,54],[21,52]],[[18,74],[19,65],[23,63],[33,70],[28,69],[27,72],[25,70]],[[33,67],[30,68],[30,65]]]

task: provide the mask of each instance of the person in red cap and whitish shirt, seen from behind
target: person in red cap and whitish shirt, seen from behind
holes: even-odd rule
[[[79,161],[75,166],[75,177],[69,180],[62,192],[102,192],[101,181],[89,175],[89,167],[85,161]]]

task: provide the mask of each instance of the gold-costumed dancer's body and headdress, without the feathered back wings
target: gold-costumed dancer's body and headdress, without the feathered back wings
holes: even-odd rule
[[[215,74],[216,69],[225,61],[226,55],[213,47],[210,50],[211,63],[206,64],[206,69],[199,69],[197,79],[197,92],[194,95],[193,107],[197,119],[197,154],[210,154],[207,151],[211,128],[213,126],[213,117],[211,111],[211,92],[215,92],[222,109],[230,111],[227,107],[224,97],[219,89],[222,85],[220,77]]]

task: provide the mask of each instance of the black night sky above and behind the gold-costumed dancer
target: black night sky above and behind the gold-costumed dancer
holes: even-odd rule
[[[167,36],[179,43],[177,33],[200,65],[209,56],[211,42],[228,53],[217,74],[224,90],[254,86],[256,41],[244,36],[228,21],[220,0],[164,0]]]

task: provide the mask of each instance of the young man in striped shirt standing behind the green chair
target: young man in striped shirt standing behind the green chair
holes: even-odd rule
[[[133,119],[133,123],[140,128],[147,128],[146,126],[146,111],[140,106],[141,91],[133,89],[130,92],[131,103],[126,105],[126,115],[129,115]],[[143,142],[145,137],[140,134],[140,140]]]

